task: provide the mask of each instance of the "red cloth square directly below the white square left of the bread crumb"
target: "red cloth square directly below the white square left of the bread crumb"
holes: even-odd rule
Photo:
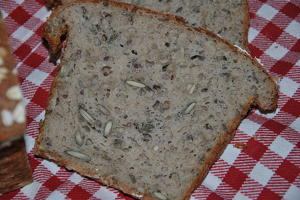
[[[229,186],[231,186],[235,190],[239,190],[242,186],[242,184],[245,182],[246,178],[248,176],[241,171],[239,171],[237,168],[232,166],[226,176],[223,178],[222,182],[227,183]]]

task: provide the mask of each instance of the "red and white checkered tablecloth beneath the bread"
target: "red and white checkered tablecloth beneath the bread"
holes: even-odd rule
[[[51,12],[44,4],[44,0],[0,0],[27,108],[25,142],[34,178],[0,200],[133,200],[33,155],[57,64],[41,34]],[[275,113],[255,109],[248,113],[191,200],[300,199],[300,1],[249,0],[249,7],[249,49],[272,76],[280,78],[278,108]],[[233,147],[237,142],[248,148]]]

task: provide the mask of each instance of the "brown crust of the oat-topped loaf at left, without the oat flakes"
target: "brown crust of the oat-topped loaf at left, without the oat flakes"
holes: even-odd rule
[[[10,53],[7,32],[0,13],[0,59],[1,68],[7,74],[0,78],[0,111],[13,110],[20,100],[6,97],[6,91],[19,83],[17,75],[12,73],[15,62]],[[2,80],[1,80],[2,79]],[[32,172],[27,161],[23,134],[26,123],[14,122],[6,127],[0,120],[0,193],[11,192],[32,182]]]

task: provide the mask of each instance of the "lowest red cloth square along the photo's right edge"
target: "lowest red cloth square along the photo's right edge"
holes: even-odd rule
[[[293,183],[300,173],[300,168],[285,159],[275,173]]]

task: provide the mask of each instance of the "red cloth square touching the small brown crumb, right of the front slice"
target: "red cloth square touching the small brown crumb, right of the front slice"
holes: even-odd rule
[[[258,141],[255,141],[254,138],[251,138],[247,142],[247,146],[248,148],[244,148],[241,153],[245,153],[257,161],[259,161],[262,158],[262,155],[267,150],[267,146]]]

